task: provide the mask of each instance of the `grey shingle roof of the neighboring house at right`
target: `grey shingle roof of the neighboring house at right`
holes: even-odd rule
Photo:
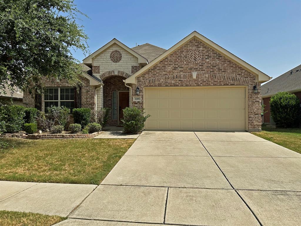
[[[262,97],[301,89],[301,64],[261,86]],[[269,92],[268,92],[269,91]]]

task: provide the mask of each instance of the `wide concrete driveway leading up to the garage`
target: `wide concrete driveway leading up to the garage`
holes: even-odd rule
[[[57,225],[298,225],[300,157],[250,133],[146,131]]]

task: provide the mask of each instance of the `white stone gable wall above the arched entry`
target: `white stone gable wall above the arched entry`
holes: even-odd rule
[[[118,63],[114,63],[110,60],[110,54],[113,50],[119,50],[122,54],[121,61]],[[132,74],[132,65],[138,65],[138,58],[115,43],[105,52],[94,58],[92,61],[92,73],[93,75],[100,77],[100,74],[115,69]]]

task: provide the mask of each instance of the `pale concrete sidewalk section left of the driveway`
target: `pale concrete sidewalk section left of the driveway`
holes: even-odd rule
[[[67,217],[96,187],[0,181],[0,210]]]

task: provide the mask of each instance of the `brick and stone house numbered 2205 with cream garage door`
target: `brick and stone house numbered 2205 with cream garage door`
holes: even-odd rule
[[[109,107],[110,125],[121,124],[127,106],[145,108],[146,130],[261,130],[260,83],[270,77],[196,31],[168,50],[113,39],[83,64],[79,93],[44,80],[44,95],[26,92],[24,105]]]

